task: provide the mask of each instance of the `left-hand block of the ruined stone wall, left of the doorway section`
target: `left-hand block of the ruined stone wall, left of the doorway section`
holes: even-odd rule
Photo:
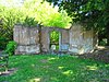
[[[14,40],[17,43],[15,54],[39,54],[38,27],[14,26]]]

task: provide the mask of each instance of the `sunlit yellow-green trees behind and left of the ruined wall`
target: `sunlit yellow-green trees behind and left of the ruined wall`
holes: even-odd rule
[[[13,27],[16,23],[28,26],[36,26],[41,23],[45,27],[66,27],[71,22],[65,11],[58,12],[58,9],[46,1],[25,0],[21,7],[13,4],[14,0],[5,3],[8,5],[0,5],[0,47],[3,46],[3,48],[8,42],[13,40]]]

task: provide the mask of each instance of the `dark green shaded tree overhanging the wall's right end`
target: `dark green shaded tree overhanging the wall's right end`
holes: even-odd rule
[[[64,9],[74,22],[86,22],[86,28],[106,34],[109,45],[109,0],[47,0]]]

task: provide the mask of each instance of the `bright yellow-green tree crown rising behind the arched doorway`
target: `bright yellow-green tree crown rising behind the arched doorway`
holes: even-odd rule
[[[27,11],[27,15],[35,17],[44,26],[66,27],[71,22],[65,11],[58,12],[58,8],[53,8],[43,0],[26,0],[23,10]]]

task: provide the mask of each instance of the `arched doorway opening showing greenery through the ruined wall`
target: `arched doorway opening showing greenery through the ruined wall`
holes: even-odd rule
[[[59,51],[59,44],[60,44],[60,32],[58,31],[50,32],[50,50]]]

